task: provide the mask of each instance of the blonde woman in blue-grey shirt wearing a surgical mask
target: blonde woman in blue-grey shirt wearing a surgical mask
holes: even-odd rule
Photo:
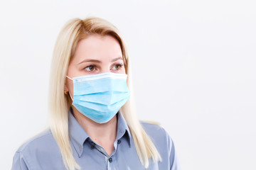
[[[53,52],[50,129],[17,150],[12,169],[180,169],[166,131],[137,119],[130,69],[111,23],[69,21]]]

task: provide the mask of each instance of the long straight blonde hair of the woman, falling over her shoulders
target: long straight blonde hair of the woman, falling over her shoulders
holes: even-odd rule
[[[120,112],[127,122],[129,130],[134,139],[134,145],[142,165],[147,168],[149,159],[153,162],[161,161],[161,156],[157,151],[154,143],[149,135],[146,134],[144,128],[135,114],[133,95],[132,95],[132,79],[131,66],[124,44],[124,40],[119,30],[112,23],[102,18],[74,18],[64,26],[60,31],[55,42],[53,50],[53,59],[50,70],[49,85],[49,111],[50,111],[50,130],[58,144],[63,157],[63,163],[66,169],[80,169],[80,166],[73,157],[73,151],[70,146],[70,138],[68,134],[68,110],[70,109],[69,97],[64,94],[65,75],[68,72],[68,64],[74,55],[78,42],[88,35],[112,35],[116,38],[122,49],[122,57],[124,60],[124,68],[128,74],[127,86],[131,91],[131,97],[127,103],[122,106]]]

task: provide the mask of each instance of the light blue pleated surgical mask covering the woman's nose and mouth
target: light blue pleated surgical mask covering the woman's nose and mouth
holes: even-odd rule
[[[127,74],[107,72],[73,77],[71,80],[73,98],[71,95],[70,97],[73,106],[96,123],[110,121],[129,100]]]

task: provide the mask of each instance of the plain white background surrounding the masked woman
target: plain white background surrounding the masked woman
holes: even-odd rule
[[[0,167],[48,126],[50,60],[70,18],[124,34],[137,111],[176,145],[182,169],[256,169],[256,4],[247,0],[1,1]]]

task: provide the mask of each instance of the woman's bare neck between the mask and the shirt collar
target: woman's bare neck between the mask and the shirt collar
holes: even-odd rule
[[[74,106],[72,108],[75,119],[94,142],[102,147],[107,145],[106,141],[114,145],[114,140],[117,137],[117,116],[107,123],[96,123],[80,113]]]

